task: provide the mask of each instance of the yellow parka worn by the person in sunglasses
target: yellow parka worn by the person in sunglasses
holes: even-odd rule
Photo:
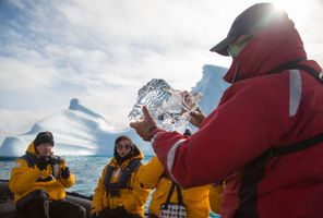
[[[111,196],[109,193],[107,193],[104,185],[106,173],[108,171],[108,166],[116,168],[113,173],[116,173],[116,171],[120,172],[119,177],[111,177],[110,181],[115,183],[119,181],[122,170],[127,168],[131,160],[144,158],[143,154],[139,150],[136,146],[134,149],[136,150],[135,155],[122,162],[121,166],[117,164],[117,159],[113,157],[109,165],[104,168],[101,177],[99,178],[97,186],[95,189],[95,194],[92,202],[93,209],[91,210],[91,213],[98,213],[101,211],[104,208],[115,209],[118,206],[123,206],[128,213],[144,217],[144,204],[148,198],[149,190],[141,187],[137,180],[137,173],[144,168],[144,165],[141,165],[131,174],[129,182],[130,187],[120,190],[119,196]]]

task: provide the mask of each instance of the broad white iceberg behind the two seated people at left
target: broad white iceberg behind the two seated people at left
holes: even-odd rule
[[[117,131],[103,116],[73,98],[68,109],[35,123],[29,132],[5,137],[0,147],[0,157],[24,155],[28,144],[40,131],[52,132],[53,152],[60,156],[111,155],[115,140],[120,134],[130,136],[135,144],[144,144],[131,129]]]

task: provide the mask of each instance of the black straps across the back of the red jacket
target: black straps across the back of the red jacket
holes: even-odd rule
[[[284,63],[274,70],[271,73],[279,73],[285,70],[303,70],[309,73],[313,77],[315,77],[323,85],[323,73],[316,71],[315,69],[303,65],[299,63],[302,61],[295,60],[287,63]],[[258,185],[265,174],[265,167],[267,161],[273,157],[285,156],[288,154],[301,152],[303,149],[310,148],[312,146],[319,145],[323,142],[323,132],[318,135],[314,135],[310,138],[286,145],[283,147],[272,147],[264,152],[261,156],[253,159],[250,164],[248,164],[241,173],[241,186],[239,190],[239,199],[240,205],[237,209],[234,218],[238,217],[258,217]]]

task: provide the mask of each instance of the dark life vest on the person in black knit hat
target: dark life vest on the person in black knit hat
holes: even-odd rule
[[[56,178],[59,177],[59,165],[62,162],[61,158],[58,156],[51,155],[51,175],[47,178],[39,178],[36,180],[36,182],[49,182]],[[34,168],[37,161],[37,157],[33,154],[26,153],[24,156],[21,157],[21,159],[25,160],[27,162],[27,166],[29,168]]]

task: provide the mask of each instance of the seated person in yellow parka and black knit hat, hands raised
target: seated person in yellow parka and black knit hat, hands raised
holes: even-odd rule
[[[19,214],[33,218],[85,218],[85,208],[65,199],[65,189],[75,182],[65,161],[52,152],[50,132],[40,132],[15,161],[9,187]]]

